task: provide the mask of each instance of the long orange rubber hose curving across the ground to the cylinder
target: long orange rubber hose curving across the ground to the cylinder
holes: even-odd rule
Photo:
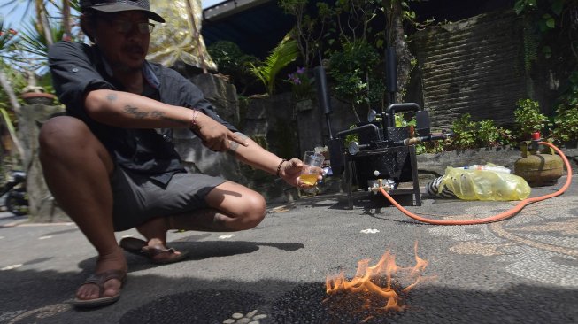
[[[520,212],[522,210],[522,208],[524,208],[528,204],[533,204],[533,203],[536,203],[538,201],[542,201],[542,200],[549,199],[551,197],[556,197],[556,196],[563,194],[564,191],[566,191],[566,189],[568,189],[568,187],[570,187],[570,183],[572,183],[572,166],[570,166],[570,162],[566,158],[566,155],[564,155],[564,152],[559,150],[559,148],[552,145],[551,143],[545,143],[545,142],[539,142],[539,143],[550,146],[552,149],[554,149],[558,153],[560,158],[562,158],[562,160],[564,161],[564,164],[566,165],[566,172],[568,173],[566,183],[564,183],[562,188],[560,188],[556,192],[553,192],[549,195],[540,196],[540,197],[526,198],[526,199],[520,201],[520,203],[517,204],[516,206],[514,206],[512,209],[505,211],[505,212],[500,212],[494,216],[486,217],[483,219],[475,219],[475,220],[433,220],[433,219],[428,219],[428,218],[418,216],[412,212],[409,212],[404,207],[402,207],[401,204],[397,204],[397,201],[395,201],[391,196],[389,196],[389,194],[382,187],[380,187],[380,191],[383,194],[383,196],[388,198],[388,200],[391,204],[395,205],[397,207],[397,209],[399,209],[401,212],[405,213],[405,215],[411,217],[413,220],[419,220],[421,222],[428,223],[428,224],[434,224],[434,225],[474,225],[474,224],[491,223],[491,222],[498,221],[498,220],[505,220],[505,219],[508,219],[508,218],[514,216],[518,212]]]

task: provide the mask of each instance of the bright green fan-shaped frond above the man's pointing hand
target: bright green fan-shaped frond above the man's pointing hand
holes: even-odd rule
[[[274,94],[277,74],[283,67],[295,61],[298,54],[297,42],[290,39],[289,35],[287,35],[271,51],[269,56],[265,58],[265,61],[258,66],[250,63],[251,73],[263,82],[267,95],[270,96]]]

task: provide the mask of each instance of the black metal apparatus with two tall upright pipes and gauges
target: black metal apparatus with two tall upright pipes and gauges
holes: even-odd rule
[[[389,89],[389,101],[394,101],[397,91],[395,50],[389,48],[386,52]],[[326,115],[329,141],[328,149],[331,158],[333,174],[344,173],[347,181],[347,197],[349,207],[352,208],[352,184],[356,180],[359,186],[367,186],[368,181],[394,181],[389,195],[412,195],[416,205],[421,205],[420,183],[415,152],[415,143],[430,141],[446,137],[446,135],[430,134],[428,112],[421,109],[419,104],[389,104],[386,110],[375,114],[381,122],[370,121],[352,129],[343,130],[333,135],[330,114],[331,104],[328,96],[327,80],[323,66],[316,66],[313,70],[321,110]],[[417,125],[415,128],[395,127],[397,112],[414,112]],[[345,148],[343,140],[346,135],[357,134],[359,143],[357,151],[351,152]],[[355,178],[355,179],[354,179]],[[401,183],[412,182],[410,189],[397,189]],[[380,182],[381,185],[381,182]],[[366,187],[366,190],[369,189]]]

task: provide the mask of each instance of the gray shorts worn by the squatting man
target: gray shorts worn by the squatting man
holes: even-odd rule
[[[181,212],[206,208],[206,195],[227,180],[206,174],[174,174],[162,186],[143,174],[116,166],[111,177],[115,231],[123,231],[145,221]]]

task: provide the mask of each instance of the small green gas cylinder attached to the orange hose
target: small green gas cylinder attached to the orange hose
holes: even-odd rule
[[[514,174],[530,187],[551,185],[564,174],[564,161],[551,148],[531,150],[531,142],[520,143],[521,158],[514,163]]]

